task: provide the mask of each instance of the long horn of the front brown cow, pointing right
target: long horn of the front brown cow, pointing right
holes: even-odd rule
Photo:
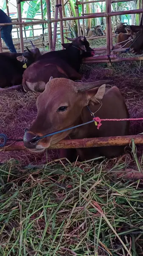
[[[95,81],[95,82],[89,82],[89,83],[79,83],[76,82],[76,91],[77,92],[83,92],[86,90],[93,89],[95,87],[101,86],[102,84],[109,84],[111,80],[101,80],[101,81]]]

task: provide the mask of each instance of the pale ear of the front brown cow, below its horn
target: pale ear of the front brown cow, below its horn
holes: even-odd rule
[[[106,84],[101,85],[100,87],[96,87],[92,90],[87,91],[87,102],[91,101],[95,103],[99,103],[103,99],[105,94]]]

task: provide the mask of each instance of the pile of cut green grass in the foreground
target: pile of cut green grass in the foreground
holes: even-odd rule
[[[128,165],[1,166],[0,256],[143,255],[143,182],[115,177]]]

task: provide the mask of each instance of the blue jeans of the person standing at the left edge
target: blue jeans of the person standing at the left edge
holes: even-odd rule
[[[1,38],[5,42],[6,46],[11,52],[17,52],[12,38],[11,38],[11,30],[12,30],[12,25],[11,26],[2,26],[2,29],[0,30],[1,32]]]

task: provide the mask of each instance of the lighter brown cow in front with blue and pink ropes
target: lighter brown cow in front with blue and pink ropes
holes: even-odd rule
[[[65,78],[50,80],[46,84],[45,91],[37,98],[38,113],[36,120],[23,138],[25,147],[32,151],[41,152],[66,137],[82,139],[127,135],[129,133],[128,121],[103,122],[99,130],[92,122],[70,131],[34,141],[39,136],[91,121],[92,116],[87,106],[95,113],[95,116],[100,118],[129,118],[126,104],[118,88],[114,86],[106,89],[105,83],[107,80],[90,83],[78,83]],[[69,157],[70,150],[65,152],[66,155],[64,156]],[[122,152],[123,147],[121,146],[79,148],[76,150],[80,160],[100,156],[113,157]],[[69,160],[71,160],[71,156],[73,153]]]

